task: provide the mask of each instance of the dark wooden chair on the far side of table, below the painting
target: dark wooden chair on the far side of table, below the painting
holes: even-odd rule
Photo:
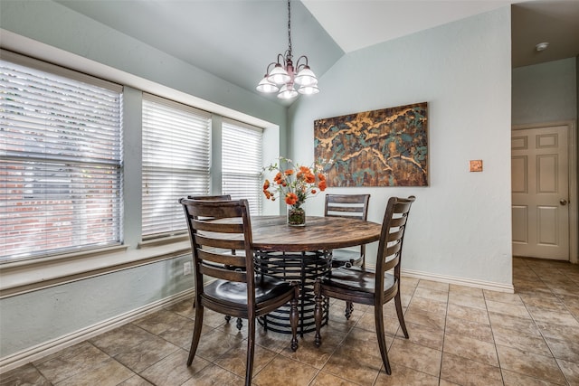
[[[370,194],[327,194],[324,215],[327,217],[348,217],[366,221],[368,219]],[[359,250],[334,249],[332,267],[346,264],[365,267],[365,244]]]

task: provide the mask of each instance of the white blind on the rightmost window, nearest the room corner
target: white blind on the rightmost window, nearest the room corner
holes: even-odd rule
[[[233,200],[247,199],[252,215],[261,214],[263,130],[224,120],[222,190]]]

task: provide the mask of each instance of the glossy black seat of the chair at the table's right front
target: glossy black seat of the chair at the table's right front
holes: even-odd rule
[[[333,268],[322,283],[351,291],[375,293],[375,270],[362,267]],[[384,273],[384,291],[394,286],[394,276]]]

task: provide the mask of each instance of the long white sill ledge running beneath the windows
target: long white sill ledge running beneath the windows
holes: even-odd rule
[[[191,252],[189,240],[180,238],[170,243],[140,245],[139,249],[128,247],[123,245],[1,264],[0,298],[172,259]]]

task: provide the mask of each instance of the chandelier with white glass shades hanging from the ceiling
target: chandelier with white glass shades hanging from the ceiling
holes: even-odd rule
[[[272,61],[266,74],[256,89],[265,93],[278,92],[280,99],[292,99],[299,94],[318,94],[318,78],[309,69],[308,57],[302,55],[294,67],[291,60],[291,10],[288,0],[288,50],[285,54],[278,53],[278,60]],[[273,68],[271,68],[273,66]],[[298,90],[295,89],[298,86]]]

